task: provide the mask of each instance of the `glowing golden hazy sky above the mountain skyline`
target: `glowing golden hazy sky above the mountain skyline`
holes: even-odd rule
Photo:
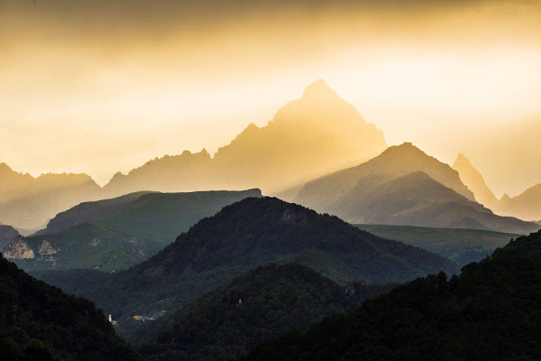
[[[540,28],[526,0],[0,0],[0,162],[104,184],[323,78],[388,143],[517,195],[541,182]]]

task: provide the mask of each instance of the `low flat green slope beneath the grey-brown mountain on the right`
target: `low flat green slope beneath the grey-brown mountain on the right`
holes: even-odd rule
[[[480,262],[520,235],[463,228],[355,225],[376,236],[404,242],[443,255],[460,265]]]

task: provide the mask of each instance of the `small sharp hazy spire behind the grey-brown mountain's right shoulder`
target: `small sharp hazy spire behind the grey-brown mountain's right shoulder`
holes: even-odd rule
[[[485,183],[481,173],[473,167],[472,162],[463,153],[459,153],[456,157],[453,169],[458,171],[460,179],[472,190],[479,203],[486,208],[494,209],[497,207],[498,199]]]

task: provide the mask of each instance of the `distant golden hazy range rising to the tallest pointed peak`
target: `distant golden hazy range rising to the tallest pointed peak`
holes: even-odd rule
[[[375,125],[318,80],[261,128],[248,125],[214,157],[185,151],[115,176],[102,189],[85,174],[29,174],[0,164],[0,222],[37,230],[81,202],[138,191],[287,189],[364,162],[387,144]]]

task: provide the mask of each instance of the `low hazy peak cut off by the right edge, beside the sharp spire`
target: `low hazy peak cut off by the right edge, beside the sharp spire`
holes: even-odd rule
[[[504,195],[496,212],[527,220],[541,218],[541,184],[528,188],[517,197]]]

